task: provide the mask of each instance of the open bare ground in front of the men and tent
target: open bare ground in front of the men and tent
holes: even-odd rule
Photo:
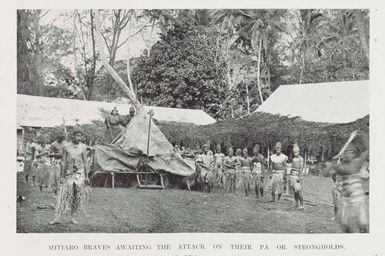
[[[53,219],[55,196],[40,192],[18,174],[17,232],[20,233],[338,233],[332,219],[331,178],[306,176],[304,210],[294,208],[293,198],[268,202],[269,195],[257,199],[230,194],[186,190],[142,190],[138,188],[92,188],[91,204],[74,225],[63,218]]]

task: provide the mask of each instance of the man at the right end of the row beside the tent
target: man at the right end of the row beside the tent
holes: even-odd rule
[[[294,158],[289,174],[289,192],[294,196],[295,205],[298,209],[303,209],[303,194],[302,194],[302,173],[303,173],[303,158],[299,155],[300,149],[298,144],[293,146]]]

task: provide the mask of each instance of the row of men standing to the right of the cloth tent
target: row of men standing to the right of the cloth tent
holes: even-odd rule
[[[298,209],[303,209],[302,175],[304,160],[300,156],[297,144],[293,147],[294,158],[291,160],[291,168],[288,168],[289,158],[282,153],[282,144],[277,142],[275,153],[266,159],[260,153],[260,146],[256,144],[250,156],[248,149],[227,150],[227,156],[222,153],[218,144],[213,153],[207,144],[202,147],[202,154],[196,158],[196,169],[203,182],[223,187],[228,192],[241,189],[249,196],[254,189],[256,197],[263,197],[264,191],[271,192],[272,201],[281,199],[282,193],[290,192]],[[269,161],[269,163],[268,163]],[[266,173],[270,173],[269,179],[265,179]]]

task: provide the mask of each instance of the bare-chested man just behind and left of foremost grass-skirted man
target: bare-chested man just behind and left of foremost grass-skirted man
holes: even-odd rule
[[[51,186],[54,190],[54,193],[57,194],[60,173],[61,173],[61,160],[64,152],[64,147],[68,145],[68,142],[65,140],[66,134],[64,131],[60,130],[57,134],[57,139],[54,143],[51,144]]]

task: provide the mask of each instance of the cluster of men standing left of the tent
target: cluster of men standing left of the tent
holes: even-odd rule
[[[72,223],[77,223],[74,214],[84,210],[89,200],[89,165],[87,147],[81,143],[83,131],[75,127],[72,141],[67,142],[66,134],[60,131],[51,145],[44,134],[38,136],[38,144],[30,140],[25,150],[24,174],[26,182],[32,177],[32,186],[52,188],[57,195],[55,218],[50,224],[59,223],[62,215],[69,212]]]

